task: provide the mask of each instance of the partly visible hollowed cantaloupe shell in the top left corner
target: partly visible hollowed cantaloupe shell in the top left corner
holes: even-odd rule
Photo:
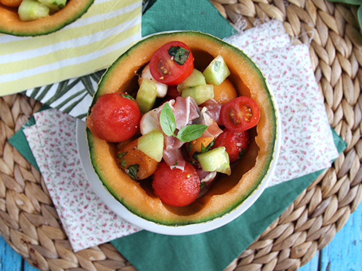
[[[53,33],[80,18],[94,0],[68,0],[63,9],[34,21],[21,21],[17,8],[0,4],[0,33],[14,36],[39,36]]]

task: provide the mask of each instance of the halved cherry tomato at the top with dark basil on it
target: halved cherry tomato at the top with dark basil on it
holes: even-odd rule
[[[152,77],[166,85],[178,85],[194,69],[194,57],[190,48],[182,42],[173,41],[161,46],[150,60]]]

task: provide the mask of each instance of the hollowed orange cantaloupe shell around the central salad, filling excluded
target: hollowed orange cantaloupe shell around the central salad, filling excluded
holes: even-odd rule
[[[207,51],[210,59],[221,54],[233,74],[230,80],[236,85],[236,89],[241,92],[243,91],[240,89],[250,91],[251,98],[260,105],[261,120],[254,131],[257,136],[245,154],[247,157],[256,157],[255,165],[249,165],[248,158],[242,159],[237,162],[237,166],[234,165],[231,176],[218,178],[209,193],[189,206],[170,207],[164,205],[156,196],[146,193],[136,181],[118,169],[112,157],[112,147],[94,137],[89,129],[87,129],[87,140],[94,171],[115,199],[141,218],[157,224],[178,226],[203,223],[223,216],[235,210],[258,188],[267,175],[274,157],[277,117],[266,79],[253,61],[238,48],[212,35],[195,31],[156,34],[132,46],[102,76],[88,113],[101,95],[126,91],[125,82],[136,76],[135,73],[148,63],[154,51],[171,40],[180,40],[187,44],[193,51],[195,59],[198,58],[198,50],[200,54],[203,54],[202,50]],[[236,64],[242,65],[236,68]],[[240,83],[240,78],[243,78],[243,83]],[[257,90],[250,90],[249,86]],[[245,91],[243,95],[248,94]],[[245,172],[242,172],[243,170]],[[227,191],[222,193],[226,187]]]

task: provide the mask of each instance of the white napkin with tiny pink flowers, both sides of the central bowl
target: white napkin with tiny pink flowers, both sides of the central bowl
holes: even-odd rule
[[[241,32],[227,41],[244,50],[260,67],[279,106],[281,152],[269,186],[329,167],[338,152],[308,47],[291,46],[278,21]],[[48,109],[36,113],[35,120],[36,124],[25,128],[24,133],[73,249],[139,231],[108,210],[85,179],[75,146],[75,118]]]

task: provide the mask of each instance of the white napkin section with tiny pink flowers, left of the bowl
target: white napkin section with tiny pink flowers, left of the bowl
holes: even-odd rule
[[[111,211],[85,179],[76,146],[76,119],[56,109],[34,114],[24,129],[73,250],[89,248],[140,228]]]

